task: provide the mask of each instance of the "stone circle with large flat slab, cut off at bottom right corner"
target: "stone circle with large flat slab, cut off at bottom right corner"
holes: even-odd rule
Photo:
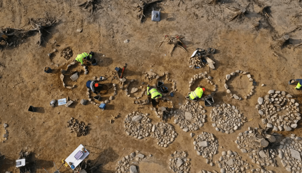
[[[290,136],[284,138],[280,142],[279,146],[279,158],[281,159],[281,164],[288,172],[301,172],[301,149],[302,141],[301,137],[291,134]]]

